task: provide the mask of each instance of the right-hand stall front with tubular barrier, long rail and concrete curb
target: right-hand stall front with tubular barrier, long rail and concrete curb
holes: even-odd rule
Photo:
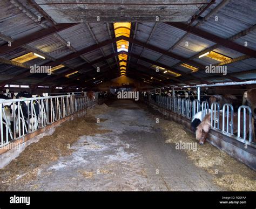
[[[240,84],[254,84],[255,81],[242,82],[242,83],[221,83],[217,85],[204,85],[204,88],[215,87],[215,86],[234,86]],[[212,133],[217,132],[218,139],[215,136],[214,140],[211,137],[210,142],[217,146],[220,149],[227,151],[233,157],[238,158],[240,161],[246,163],[252,169],[256,169],[256,141],[255,141],[255,127],[253,120],[253,110],[250,106],[240,105],[237,111],[234,111],[234,107],[230,103],[225,103],[222,108],[220,108],[220,104],[218,102],[212,102],[209,105],[207,100],[200,101],[200,88],[202,86],[191,86],[190,88],[197,89],[197,99],[189,98],[188,96],[162,96],[160,94],[156,96],[152,96],[154,94],[149,95],[149,98],[145,100],[149,105],[153,105],[154,108],[160,108],[169,111],[168,113],[164,112],[164,114],[169,115],[169,117],[173,118],[172,114],[181,116],[182,122],[181,124],[188,123],[191,121],[194,116],[201,112],[200,120],[202,121],[206,114],[211,114],[211,129]],[[176,87],[178,90],[179,87]],[[174,93],[175,88],[172,89]],[[163,113],[162,110],[160,112]],[[211,110],[211,111],[210,111]],[[223,112],[221,117],[223,117],[223,123],[220,126],[220,112]],[[241,113],[243,113],[241,115]],[[233,123],[234,123],[234,114],[238,115],[237,127],[238,130],[234,133]],[[175,116],[174,116],[175,117]],[[224,119],[225,117],[225,119]],[[247,117],[247,118],[246,118]],[[246,123],[248,121],[248,123]],[[190,130],[190,123],[187,124],[188,129]],[[248,131],[247,131],[248,130]],[[229,138],[228,140],[226,138]],[[224,140],[225,139],[225,140]],[[218,142],[218,141],[222,142]],[[237,142],[238,141],[238,142]],[[224,144],[223,144],[224,143]],[[225,144],[227,143],[227,144]],[[239,144],[237,146],[237,143]],[[231,148],[231,145],[234,145],[234,149]]]

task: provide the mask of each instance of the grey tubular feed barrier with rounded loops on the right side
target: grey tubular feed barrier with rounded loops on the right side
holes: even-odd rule
[[[181,97],[169,97],[157,95],[156,99],[149,96],[149,102],[154,103],[161,108],[171,110],[187,119],[192,119],[194,115],[202,111],[202,119],[206,114],[210,113],[209,104],[207,101],[200,103],[199,100],[181,99]],[[253,130],[252,130],[252,110],[248,106],[240,106],[238,109],[237,127],[238,132],[234,134],[234,108],[231,104],[226,103],[223,109],[220,109],[220,105],[217,102],[213,102],[211,105],[211,128],[220,132],[221,134],[232,136],[236,140],[242,141],[246,144],[254,144],[253,142]],[[241,112],[243,114],[241,114]],[[220,126],[220,113],[222,118],[222,125]],[[242,115],[242,119],[241,119]],[[249,120],[247,119],[249,117]],[[246,120],[249,121],[248,127],[246,127]],[[240,129],[242,126],[242,129]],[[246,134],[246,130],[249,129],[249,134]],[[242,130],[242,131],[241,131]]]

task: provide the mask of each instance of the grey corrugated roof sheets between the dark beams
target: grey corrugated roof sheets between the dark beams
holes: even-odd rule
[[[35,16],[41,16],[42,15],[32,6],[26,5],[25,1],[18,0],[25,6],[26,9],[28,9],[30,12],[32,12]],[[221,0],[217,0],[215,4],[210,6],[201,16],[207,15],[208,12],[211,12],[215,6],[217,6]],[[1,6],[2,5],[2,6]],[[235,34],[248,29],[252,25],[255,25],[256,23],[256,2],[255,1],[248,1],[242,0],[242,1],[230,1],[224,8],[222,8],[217,14],[213,15],[211,18],[209,18],[206,22],[200,24],[198,27],[199,29],[203,29],[205,31],[208,31],[212,34],[215,34],[217,36],[223,37],[223,38],[229,38],[234,36]],[[214,16],[218,16],[218,21],[215,21]],[[196,25],[197,21],[193,23],[193,25]],[[50,26],[50,23],[44,23],[46,26]],[[134,25],[134,24],[133,24]],[[109,26],[109,29],[108,27]],[[132,29],[134,30],[134,26]],[[19,10],[17,6],[14,4],[11,4],[7,0],[2,0],[0,2],[0,31],[3,33],[4,36],[10,36],[13,39],[19,39],[22,37],[25,37],[28,34],[32,34],[33,32],[42,30],[42,25],[36,23],[33,19],[28,17],[24,12]],[[134,37],[136,40],[142,41],[143,43],[146,43],[152,46],[156,46],[158,48],[161,48],[162,50],[170,50],[172,53],[180,55],[183,58],[191,58],[194,55],[198,54],[201,51],[206,50],[207,48],[215,45],[214,41],[206,40],[204,38],[200,38],[198,36],[195,36],[194,34],[188,34],[186,38],[184,38],[182,41],[180,41],[179,45],[171,49],[172,46],[174,46],[181,37],[184,36],[186,33],[183,30],[179,30],[176,27],[167,25],[165,23],[161,22],[143,22],[137,23],[137,30],[131,31],[131,34],[136,33],[136,36]],[[105,40],[108,40],[110,38],[114,37],[113,33],[113,24],[112,23],[105,23],[105,22],[91,22],[91,23],[80,23],[78,25],[72,26],[68,29],[62,30],[57,33],[58,36],[55,34],[49,34],[49,36],[44,37],[42,39],[38,39],[36,41],[33,41],[32,43],[28,44],[29,48],[32,48],[34,50],[37,50],[39,52],[42,52],[46,55],[46,59],[42,60],[40,58],[36,58],[33,60],[30,60],[26,62],[25,64],[28,65],[43,65],[46,62],[49,62],[50,58],[58,59],[63,58],[68,54],[74,53],[75,51],[80,51],[84,48],[90,47],[92,45],[96,45],[97,43],[102,43]],[[1,34],[0,34],[1,36]],[[131,38],[133,38],[131,36]],[[68,47],[66,43],[68,41],[71,44],[71,47]],[[234,40],[235,43],[238,43],[242,46],[244,46],[245,41],[248,43],[248,48],[251,48],[253,50],[256,50],[256,31],[251,31],[246,36],[241,37],[237,40]],[[188,46],[186,46],[186,43]],[[6,41],[3,39],[0,39],[0,45],[6,44]],[[72,50],[72,47],[75,49]],[[138,46],[136,44],[132,44],[132,47],[129,47],[129,50],[132,51],[131,53],[141,55],[144,58],[150,59],[152,61],[159,62],[160,64],[172,67],[173,65],[176,65],[180,62],[180,60],[171,58],[167,55],[163,55],[161,53],[155,52],[150,50],[149,48],[144,48],[141,46]],[[101,49],[101,50],[100,50]],[[96,50],[93,50],[89,53],[86,53],[83,55],[83,58],[77,57],[71,60],[66,60],[65,64],[67,66],[71,67],[77,67],[80,66],[86,62],[92,62],[93,60],[100,59],[102,60],[95,64],[94,66],[100,66],[104,67],[104,69],[108,69],[109,64],[114,64],[116,62],[115,58],[110,58],[108,60],[104,60],[104,55],[109,55],[112,53],[116,53],[116,45],[106,45],[101,48],[98,48]],[[241,57],[242,53],[231,50],[230,48],[218,46],[218,48],[214,49],[215,52],[221,53],[226,55],[227,57],[231,58],[238,58]],[[23,54],[29,53],[30,50],[25,48],[16,48],[15,50],[12,50],[8,53],[0,54],[1,58],[4,59],[13,59],[16,57],[19,57]],[[48,59],[49,58],[49,59]],[[132,68],[136,68],[136,64],[144,65],[145,67],[149,68],[152,64],[149,62],[145,62],[142,60],[138,60],[132,57],[128,56],[129,61],[131,62]],[[192,59],[193,61],[198,62],[202,65],[214,65],[218,64],[219,61],[208,58],[208,57],[202,57]],[[133,64],[133,65],[132,65]],[[134,65],[135,64],[135,65]],[[228,72],[229,73],[235,73],[235,72],[241,72],[241,71],[249,71],[251,69],[255,69],[256,66],[256,59],[250,58],[245,59],[237,62],[233,62],[232,64],[228,64]],[[112,68],[115,68],[116,66],[112,66]],[[93,68],[88,68],[93,69]],[[82,69],[80,72],[86,72],[88,69]],[[139,69],[139,67],[138,67]],[[180,70],[181,72],[189,73],[191,72],[190,69],[178,66],[176,69]],[[0,64],[0,74],[2,74],[2,77],[9,76],[9,75],[18,75],[19,73],[25,72],[27,69],[19,68],[16,66],[10,66],[6,64]],[[65,72],[70,71],[70,68],[65,67],[58,69],[57,72]],[[129,67],[127,67],[127,71],[129,71]],[[146,71],[145,71],[146,73]],[[188,74],[189,75],[189,74]],[[212,76],[212,74],[206,74],[204,71],[202,72],[196,72],[193,73],[194,76],[198,76],[198,78],[204,78],[204,80],[207,80],[208,76]],[[249,75],[249,74],[248,74]],[[235,75],[237,78],[242,79],[256,79],[256,74],[250,74],[251,76],[247,75]],[[7,78],[5,77],[5,78]],[[41,75],[34,75],[35,79],[41,79]],[[74,75],[74,78],[78,77],[77,75]],[[32,81],[33,75],[30,76],[30,79],[22,79],[20,81]],[[183,80],[183,76],[178,77],[178,79]],[[211,82],[217,82],[221,79],[229,80],[226,78],[218,78],[218,79],[210,79]],[[64,79],[65,80],[65,79]]]

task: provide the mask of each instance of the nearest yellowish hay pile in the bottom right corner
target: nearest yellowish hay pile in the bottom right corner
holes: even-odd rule
[[[256,180],[251,180],[239,174],[224,175],[213,180],[219,186],[226,187],[232,191],[256,191]]]

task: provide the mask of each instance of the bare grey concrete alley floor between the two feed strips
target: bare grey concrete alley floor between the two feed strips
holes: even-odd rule
[[[218,191],[212,176],[183,150],[165,143],[149,113],[131,101],[115,101],[99,125],[110,133],[83,136],[72,155],[60,157],[23,190]]]

